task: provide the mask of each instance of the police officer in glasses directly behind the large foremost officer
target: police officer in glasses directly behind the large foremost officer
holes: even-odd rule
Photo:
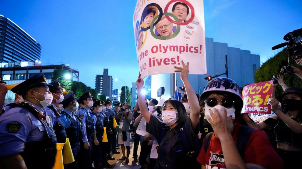
[[[53,124],[54,132],[57,136],[58,143],[65,143],[66,142],[66,132],[65,127],[63,125],[63,122],[59,117],[61,116],[58,112],[58,104],[63,101],[64,96],[62,92],[62,87],[60,86],[60,83],[58,80],[54,80],[49,83],[49,85],[52,85],[49,87],[49,91],[51,92],[53,99],[51,102],[51,105],[47,106],[45,109],[47,111],[47,114],[50,114],[51,121]]]

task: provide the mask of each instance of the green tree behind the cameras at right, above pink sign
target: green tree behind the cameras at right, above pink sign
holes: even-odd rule
[[[262,66],[257,70],[255,74],[255,82],[261,82],[261,81],[269,81],[273,75],[279,75],[280,69],[283,66],[287,65],[288,61],[288,55],[289,53],[286,52],[286,49],[283,49],[278,54],[276,54],[274,57],[267,60],[265,63],[262,64]],[[292,66],[297,67],[301,69],[302,67],[297,65],[296,62],[291,62]],[[301,86],[302,87],[302,80],[297,77],[295,74],[285,74],[283,75],[284,83],[288,87],[294,87],[294,86]],[[275,95],[281,94],[283,92],[280,85],[276,88]]]

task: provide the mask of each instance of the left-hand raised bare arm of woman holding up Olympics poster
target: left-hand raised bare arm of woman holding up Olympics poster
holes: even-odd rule
[[[147,104],[145,101],[145,96],[142,94],[142,89],[144,87],[144,80],[141,78],[141,74],[139,74],[139,78],[136,81],[137,87],[137,101],[139,102],[139,110],[141,111],[142,116],[146,119],[147,123],[150,122],[151,114],[148,111]]]

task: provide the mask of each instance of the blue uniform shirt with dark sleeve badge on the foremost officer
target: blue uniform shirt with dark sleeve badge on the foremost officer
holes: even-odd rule
[[[45,109],[27,102],[45,113]],[[44,125],[28,110],[10,109],[0,117],[0,157],[23,152],[26,142],[43,141],[44,131]]]

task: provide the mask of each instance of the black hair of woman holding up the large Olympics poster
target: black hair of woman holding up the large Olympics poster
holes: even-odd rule
[[[166,106],[167,103],[170,103],[178,112],[178,119],[176,122],[178,124],[184,124],[188,119],[187,111],[186,108],[184,108],[184,104],[182,104],[176,99],[169,99],[163,103],[163,108]]]

